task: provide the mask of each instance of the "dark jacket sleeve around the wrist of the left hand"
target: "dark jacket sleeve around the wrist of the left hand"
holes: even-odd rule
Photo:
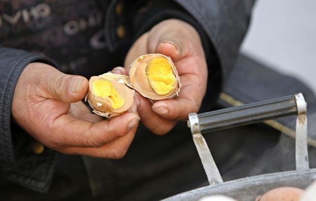
[[[54,65],[44,56],[0,46],[0,174],[22,186],[45,192],[52,178],[55,152],[32,152],[34,139],[11,121],[11,106],[20,73],[29,63]]]

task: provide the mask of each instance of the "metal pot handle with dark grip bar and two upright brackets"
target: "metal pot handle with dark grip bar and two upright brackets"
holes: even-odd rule
[[[201,133],[242,126],[297,114],[296,169],[309,169],[306,102],[301,93],[205,113],[190,113],[188,127],[203,163],[209,183],[223,182]],[[203,142],[203,143],[201,143]]]

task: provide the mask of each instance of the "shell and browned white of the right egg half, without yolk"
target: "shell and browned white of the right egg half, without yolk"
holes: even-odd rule
[[[168,59],[168,63],[172,67],[173,74],[175,76],[175,82],[173,83],[172,90],[165,94],[159,95],[157,94],[151,87],[149,80],[146,76],[146,67],[148,66],[149,62],[157,57],[163,57]],[[131,65],[129,70],[129,80],[130,82],[127,85],[136,91],[138,91],[142,96],[152,99],[152,100],[163,100],[163,99],[170,99],[174,96],[178,95],[180,92],[180,77],[178,75],[177,69],[170,59],[170,57],[165,56],[163,54],[144,54],[137,58]]]

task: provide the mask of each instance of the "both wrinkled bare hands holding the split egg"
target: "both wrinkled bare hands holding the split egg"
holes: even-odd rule
[[[198,111],[206,90],[203,48],[198,33],[188,23],[170,19],[155,25],[130,48],[125,66],[147,53],[162,53],[174,61],[182,83],[178,97],[152,104],[135,96],[128,112],[102,120],[82,102],[88,91],[86,78],[31,63],[22,71],[14,92],[14,123],[46,147],[64,154],[122,158],[140,118],[154,133],[165,134],[177,121],[187,120],[188,113]],[[117,67],[112,72],[127,74],[128,68]]]

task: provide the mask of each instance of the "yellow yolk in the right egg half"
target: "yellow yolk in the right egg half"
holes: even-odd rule
[[[157,94],[165,95],[173,89],[175,76],[168,59],[152,59],[146,67],[146,75],[152,89]]]

